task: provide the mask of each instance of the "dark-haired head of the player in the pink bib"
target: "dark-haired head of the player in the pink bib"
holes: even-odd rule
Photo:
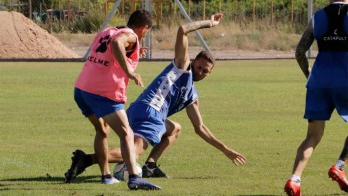
[[[145,9],[138,9],[130,15],[127,26],[133,29],[140,41],[152,27],[152,15]]]

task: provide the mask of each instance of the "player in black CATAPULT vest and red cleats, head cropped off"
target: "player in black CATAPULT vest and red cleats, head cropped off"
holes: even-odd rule
[[[297,150],[292,176],[285,184],[289,196],[301,196],[301,174],[334,109],[348,121],[348,0],[329,1],[330,5],[314,14],[296,49],[297,62],[308,78],[304,118],[309,125],[306,139]],[[314,39],[319,54],[311,70],[305,52]],[[329,177],[348,193],[346,161],[348,137],[339,160],[329,170]]]

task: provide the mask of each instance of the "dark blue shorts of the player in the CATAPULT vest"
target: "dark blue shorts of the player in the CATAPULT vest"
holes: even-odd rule
[[[328,121],[335,108],[347,122],[348,88],[307,88],[306,112],[303,118]]]

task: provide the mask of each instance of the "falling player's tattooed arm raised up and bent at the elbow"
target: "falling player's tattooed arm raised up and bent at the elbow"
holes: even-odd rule
[[[177,29],[174,62],[179,69],[186,69],[190,63],[187,34],[197,29],[210,28],[218,25],[222,16],[222,13],[214,14],[210,20],[189,22]]]

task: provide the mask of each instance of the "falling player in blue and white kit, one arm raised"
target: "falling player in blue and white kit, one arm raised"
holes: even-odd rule
[[[186,109],[195,132],[206,142],[222,151],[236,165],[244,165],[245,157],[218,140],[203,124],[198,110],[198,92],[194,82],[208,76],[214,67],[214,58],[202,51],[190,62],[187,34],[201,28],[219,24],[222,14],[211,16],[210,20],[190,22],[177,30],[174,61],[160,73],[144,92],[129,106],[127,116],[134,131],[134,146],[137,158],[150,146],[154,146],[145,165],[143,177],[168,176],[156,162],[163,152],[179,136],[180,125],[168,117]],[[94,154],[85,157],[86,166],[98,163]],[[110,163],[123,162],[120,148],[108,151]]]

